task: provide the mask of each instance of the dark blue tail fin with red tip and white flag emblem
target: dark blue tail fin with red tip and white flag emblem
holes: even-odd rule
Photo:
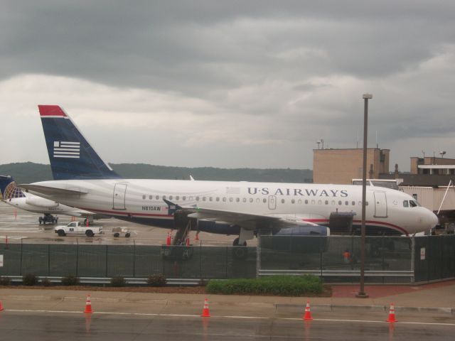
[[[38,105],[54,180],[120,178],[58,105]]]

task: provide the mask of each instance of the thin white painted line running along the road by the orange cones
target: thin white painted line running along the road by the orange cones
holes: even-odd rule
[[[191,314],[163,314],[163,313],[122,313],[122,312],[109,312],[109,311],[98,311],[90,314],[85,314],[83,311],[74,310],[30,310],[30,309],[5,309],[5,312],[11,311],[13,313],[67,313],[67,314],[81,314],[81,315],[123,315],[123,316],[156,316],[156,317],[167,317],[167,318],[201,318],[200,315]],[[211,315],[210,318],[239,318],[239,319],[250,319],[250,320],[288,320],[288,321],[304,321],[302,318],[265,318],[263,316],[230,316],[230,315]],[[347,319],[335,319],[335,318],[314,318],[313,321],[325,321],[325,322],[356,322],[356,323],[390,323],[385,320],[347,320]],[[309,321],[308,321],[309,322]],[[442,325],[455,327],[455,323],[437,323],[437,322],[395,322],[397,325]]]

